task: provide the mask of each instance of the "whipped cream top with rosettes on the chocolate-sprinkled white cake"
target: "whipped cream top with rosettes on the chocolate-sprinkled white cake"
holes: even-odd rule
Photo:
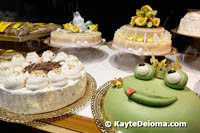
[[[17,62],[18,65],[14,65]],[[44,66],[45,63],[50,63],[50,66],[52,65],[51,63],[58,63],[60,66],[54,67],[48,72],[43,69],[33,69],[33,71],[25,69],[31,65],[47,68],[49,65]],[[5,89],[11,91],[18,91],[19,89],[37,91],[45,88],[64,88],[78,83],[85,76],[86,72],[83,64],[78,58],[73,55],[67,55],[64,52],[60,52],[55,56],[53,52],[46,51],[42,57],[39,57],[35,52],[31,52],[27,54],[26,59],[19,55],[13,57],[11,62],[0,63],[0,84]]]

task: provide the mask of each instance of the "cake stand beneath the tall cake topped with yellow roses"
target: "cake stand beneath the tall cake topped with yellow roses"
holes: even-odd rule
[[[132,50],[113,47],[112,42],[109,42],[109,46],[111,49],[117,50],[117,53],[111,56],[109,62],[111,65],[117,69],[133,72],[133,68],[140,63],[148,62],[150,63],[150,59],[152,55],[142,55],[141,53],[134,52]],[[165,58],[165,56],[170,56],[176,54],[177,51],[175,48],[172,48],[172,51],[164,54],[164,55],[155,55],[155,57],[160,61]],[[171,60],[167,60],[167,63],[170,63]]]

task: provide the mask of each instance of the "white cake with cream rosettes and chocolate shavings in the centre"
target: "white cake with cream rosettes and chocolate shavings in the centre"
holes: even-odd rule
[[[86,72],[77,57],[60,52],[18,54],[0,63],[0,107],[17,114],[45,113],[84,96]]]

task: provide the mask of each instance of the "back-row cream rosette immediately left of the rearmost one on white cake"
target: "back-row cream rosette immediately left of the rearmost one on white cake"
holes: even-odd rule
[[[41,58],[38,56],[36,52],[28,53],[26,56],[26,62],[33,64],[33,63],[40,63]]]

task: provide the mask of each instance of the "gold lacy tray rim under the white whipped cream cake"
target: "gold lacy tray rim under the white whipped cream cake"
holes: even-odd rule
[[[87,87],[85,95],[75,103],[52,112],[46,112],[41,114],[30,114],[30,115],[16,114],[8,112],[3,108],[0,108],[0,120],[12,123],[23,123],[30,126],[32,122],[34,125],[35,121],[39,122],[38,120],[41,119],[55,118],[69,113],[75,113],[83,109],[88,104],[92,95],[96,91],[96,86],[97,85],[95,79],[91,75],[87,74]]]

